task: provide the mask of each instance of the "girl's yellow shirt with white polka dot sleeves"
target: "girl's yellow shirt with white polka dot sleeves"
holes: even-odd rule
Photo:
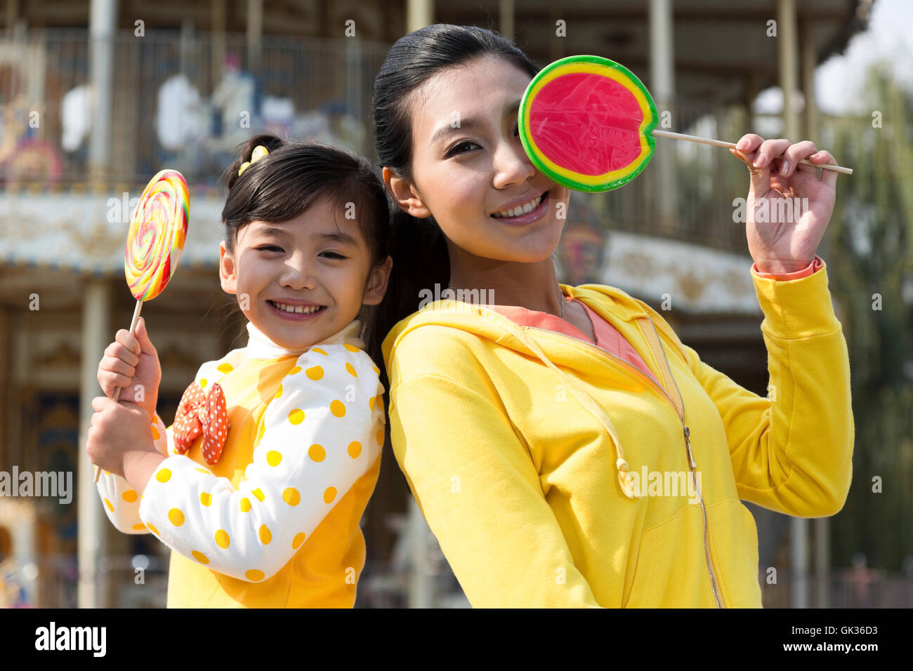
[[[306,351],[279,348],[248,324],[246,348],[206,362],[204,391],[226,394],[226,446],[212,466],[203,436],[169,455],[142,497],[103,473],[111,523],[152,532],[172,550],[168,607],[352,607],[364,566],[359,522],[380,469],[383,385],[359,320]]]

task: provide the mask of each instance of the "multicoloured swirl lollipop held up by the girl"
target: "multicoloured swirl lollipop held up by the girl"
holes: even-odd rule
[[[130,220],[123,270],[136,308],[130,333],[136,332],[142,303],[162,293],[174,274],[187,237],[190,194],[184,175],[163,170],[152,177],[140,196]],[[121,387],[114,390],[114,400],[121,398]],[[95,481],[100,469],[96,468]]]

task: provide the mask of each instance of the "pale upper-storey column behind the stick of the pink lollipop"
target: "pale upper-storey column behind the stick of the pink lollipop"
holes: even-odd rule
[[[671,0],[650,0],[650,92],[656,103],[656,112],[662,116],[664,110],[672,113],[670,131],[679,128],[675,111],[675,40]],[[656,163],[654,192],[659,204],[658,215],[664,227],[676,225],[677,184],[675,178],[676,144],[659,140],[653,155]]]

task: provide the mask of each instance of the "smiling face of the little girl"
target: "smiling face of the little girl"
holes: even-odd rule
[[[310,347],[383,299],[392,260],[372,268],[357,223],[335,215],[322,198],[287,222],[242,226],[232,252],[219,245],[222,288],[280,347]]]

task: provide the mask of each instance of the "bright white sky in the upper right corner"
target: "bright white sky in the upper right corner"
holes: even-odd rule
[[[843,54],[815,70],[818,108],[828,114],[862,113],[871,103],[860,100],[869,66],[887,60],[895,80],[913,91],[913,1],[875,0],[868,29],[852,37]],[[779,89],[767,89],[755,102],[758,112],[782,109]]]

